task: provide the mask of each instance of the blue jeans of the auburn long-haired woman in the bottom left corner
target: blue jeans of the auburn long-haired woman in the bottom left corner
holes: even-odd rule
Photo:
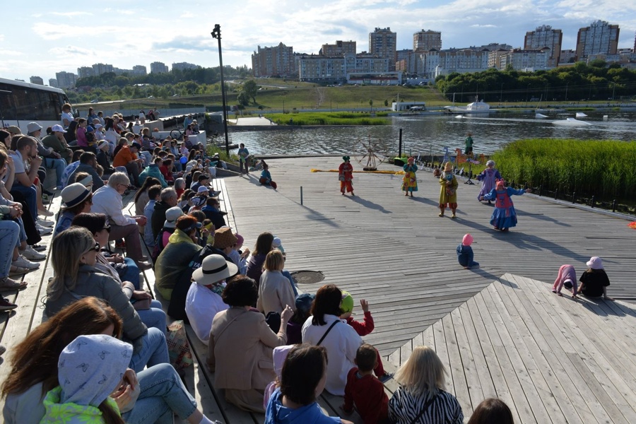
[[[155,365],[137,373],[137,379],[141,393],[134,408],[122,415],[126,423],[171,424],[172,413],[186,420],[196,411],[196,401],[172,365]]]

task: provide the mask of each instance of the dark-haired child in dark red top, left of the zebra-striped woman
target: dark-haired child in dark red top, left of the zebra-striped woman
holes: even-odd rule
[[[373,377],[372,370],[377,363],[373,346],[363,343],[355,353],[355,365],[347,375],[344,404],[346,413],[353,412],[353,406],[360,417],[367,423],[384,423],[389,416],[389,396],[384,393],[384,386]]]

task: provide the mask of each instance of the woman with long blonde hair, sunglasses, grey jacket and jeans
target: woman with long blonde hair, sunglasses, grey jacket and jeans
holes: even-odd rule
[[[143,370],[168,363],[163,331],[146,327],[120,285],[112,276],[95,268],[100,244],[86,228],[71,227],[54,237],[50,260],[55,276],[47,287],[45,313],[48,317],[86,296],[108,302],[124,322],[124,341],[134,346],[130,367]]]

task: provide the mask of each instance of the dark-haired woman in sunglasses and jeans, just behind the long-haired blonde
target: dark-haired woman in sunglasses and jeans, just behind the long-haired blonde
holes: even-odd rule
[[[95,238],[95,242],[98,242],[100,247],[104,247],[108,243],[108,234],[110,233],[110,225],[106,225],[106,216],[103,213],[80,213],[73,218],[73,225],[77,227],[83,227],[88,229]],[[139,268],[134,264],[134,261],[129,258],[124,259],[126,265],[133,267],[136,270],[136,276],[134,272],[131,273],[133,277],[136,277],[136,284],[126,279],[125,271],[123,276],[115,269],[114,264],[107,259],[102,252],[98,252],[95,258],[95,268],[103,273],[111,276],[119,285],[129,298],[131,304],[141,317],[141,322],[148,327],[155,327],[165,332],[165,312],[161,309],[161,302],[153,300],[150,293],[143,290],[138,290],[139,287]],[[132,262],[129,264],[128,261]],[[115,264],[117,265],[117,264]],[[126,266],[127,268],[127,266]]]

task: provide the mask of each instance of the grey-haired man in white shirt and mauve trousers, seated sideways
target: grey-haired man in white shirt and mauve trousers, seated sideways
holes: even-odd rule
[[[108,217],[110,224],[109,240],[126,241],[126,255],[133,259],[139,269],[150,269],[151,264],[144,262],[146,257],[141,254],[141,240],[139,239],[139,227],[146,225],[145,216],[124,215],[122,194],[130,185],[128,176],[123,172],[115,172],[108,178],[108,183],[93,194],[93,207],[91,211],[103,213]]]

